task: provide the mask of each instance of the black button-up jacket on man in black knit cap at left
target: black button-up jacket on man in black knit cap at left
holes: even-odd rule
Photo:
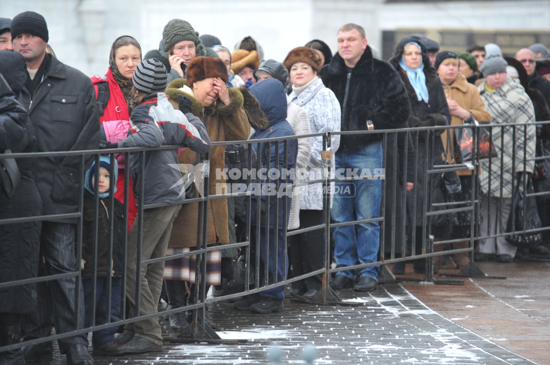
[[[46,54],[46,57],[51,57]],[[32,100],[32,102],[31,102]],[[51,58],[43,80],[31,96],[21,89],[20,101],[29,110],[36,133],[34,151],[79,151],[97,149],[100,117],[96,92],[90,78],[79,70]],[[94,156],[85,157],[84,169]],[[45,157],[35,160],[35,181],[45,215],[78,212],[79,156]],[[74,219],[57,222],[76,223]]]

